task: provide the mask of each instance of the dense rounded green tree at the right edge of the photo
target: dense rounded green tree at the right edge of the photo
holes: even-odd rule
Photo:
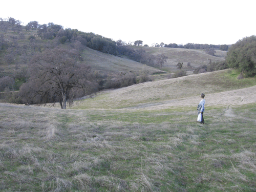
[[[237,69],[245,77],[256,75],[256,37],[245,37],[229,47],[226,57],[229,68]]]

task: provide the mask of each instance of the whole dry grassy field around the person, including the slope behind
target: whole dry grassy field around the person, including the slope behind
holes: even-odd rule
[[[0,190],[255,191],[256,83],[234,76],[138,84],[69,110],[0,103]]]

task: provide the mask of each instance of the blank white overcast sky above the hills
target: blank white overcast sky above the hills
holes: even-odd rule
[[[54,23],[148,46],[234,44],[256,33],[255,0],[14,0],[0,6],[1,18],[13,17],[23,25]]]

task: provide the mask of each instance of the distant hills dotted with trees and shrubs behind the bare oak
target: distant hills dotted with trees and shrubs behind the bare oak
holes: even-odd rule
[[[121,83],[121,87],[131,85],[128,82],[131,80],[136,83],[170,78],[170,73],[178,71],[177,63],[182,63],[183,69],[191,73],[200,66],[207,68],[205,65],[210,62],[223,61],[226,55],[225,51],[220,50],[212,56],[203,49],[131,46],[94,33],[63,29],[53,23],[39,25],[37,22],[30,22],[27,26],[22,26],[13,18],[7,21],[0,19],[0,78],[1,84],[5,84],[0,87],[0,91],[7,87],[19,90],[28,81],[27,70],[31,58],[55,48],[77,50],[81,61],[90,65],[92,72],[96,74],[100,89],[120,87],[120,82],[116,83],[112,79],[124,77],[123,75],[127,82]],[[173,77],[177,76],[182,75]],[[108,86],[104,86],[106,79],[110,80]],[[2,83],[3,81],[5,82]]]

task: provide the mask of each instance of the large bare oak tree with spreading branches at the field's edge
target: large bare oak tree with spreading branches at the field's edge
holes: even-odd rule
[[[81,62],[77,50],[47,49],[34,56],[29,65],[30,78],[20,88],[25,103],[67,102],[97,91],[90,67]]]

